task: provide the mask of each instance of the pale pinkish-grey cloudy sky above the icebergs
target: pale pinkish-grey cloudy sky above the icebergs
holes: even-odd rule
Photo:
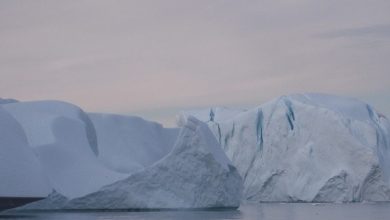
[[[181,110],[351,96],[390,117],[388,0],[1,0],[0,97],[166,126]]]

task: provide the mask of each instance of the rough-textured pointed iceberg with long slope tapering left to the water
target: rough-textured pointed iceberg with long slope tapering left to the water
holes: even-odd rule
[[[237,208],[242,179],[208,126],[188,117],[172,151],[124,180],[69,201],[54,193],[21,209]]]

